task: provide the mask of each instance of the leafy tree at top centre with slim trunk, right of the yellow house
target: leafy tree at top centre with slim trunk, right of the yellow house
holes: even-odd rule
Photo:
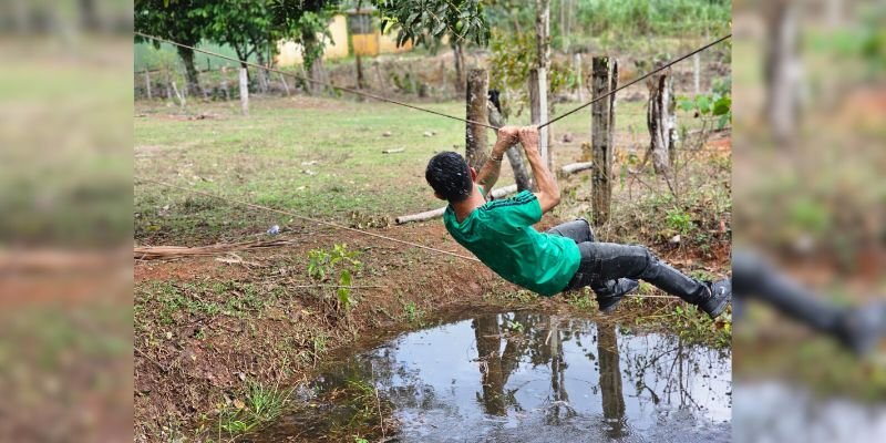
[[[455,54],[455,85],[464,87],[464,44],[485,47],[490,24],[480,0],[375,0],[382,30],[398,27],[396,45],[408,41],[437,48],[444,37]]]

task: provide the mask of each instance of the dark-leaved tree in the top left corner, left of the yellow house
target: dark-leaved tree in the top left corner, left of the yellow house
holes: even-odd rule
[[[196,47],[204,37],[208,17],[197,8],[203,3],[196,0],[135,0],[135,30],[172,40],[188,47]],[[136,37],[136,41],[144,38]],[[159,42],[153,41],[159,49]],[[187,87],[192,95],[199,90],[199,75],[194,66],[194,51],[176,47],[178,56],[185,65]]]

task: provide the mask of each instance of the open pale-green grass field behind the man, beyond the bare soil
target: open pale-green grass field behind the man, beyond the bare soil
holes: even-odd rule
[[[463,115],[462,103],[425,103]],[[646,131],[645,102],[619,104],[618,132]],[[409,109],[333,99],[268,99],[249,116],[229,104],[198,104],[181,113],[161,102],[140,103],[135,120],[135,237],[145,243],[199,244],[258,234],[289,217],[230,205],[147,178],[361,225],[441,206],[424,182],[435,152],[464,152],[464,123]],[[558,112],[571,104],[558,105]],[[589,138],[589,111],[555,127],[559,164],[577,161]],[[204,116],[203,119],[197,119]],[[514,119],[515,124],[525,124]],[[385,136],[390,134],[389,136]],[[488,134],[490,144],[494,133]],[[630,140],[629,135],[624,135]],[[640,138],[638,138],[640,140]],[[403,148],[402,153],[382,151]],[[513,183],[507,164],[498,185]]]

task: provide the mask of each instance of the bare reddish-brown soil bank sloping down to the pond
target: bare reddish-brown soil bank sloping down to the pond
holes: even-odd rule
[[[539,227],[553,222],[546,217]],[[303,241],[279,249],[238,253],[244,262],[253,265],[222,262],[216,257],[136,260],[137,441],[167,440],[183,431],[199,433],[202,426],[213,429],[217,408],[237,398],[244,380],[297,384],[313,374],[326,352],[373,330],[414,328],[447,311],[567,306],[564,297],[544,299],[521,292],[474,261],[352,231],[320,229],[306,235],[299,230],[298,239]],[[439,220],[377,231],[470,254],[450,238]],[[333,244],[347,244],[350,250],[362,253],[359,259],[363,267],[353,285],[373,287],[356,289],[358,305],[349,312],[330,302],[334,296],[329,292],[334,289],[292,287],[311,285],[305,264],[308,251]],[[681,251],[666,251],[663,256],[678,265],[691,265],[697,258]],[[728,267],[728,248],[718,250],[715,256],[718,268]],[[220,293],[194,289],[194,285],[219,281],[236,285],[230,292]],[[243,317],[224,312],[195,315],[181,309],[172,321],[164,321],[164,306],[157,297],[147,296],[156,291],[154,286],[158,282],[172,284],[185,297],[199,302],[224,303],[227,297],[243,290],[237,285],[254,285],[261,297],[271,299]]]

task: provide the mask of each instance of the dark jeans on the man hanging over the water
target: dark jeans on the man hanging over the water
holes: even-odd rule
[[[645,246],[594,241],[587,220],[579,218],[557,225],[547,231],[571,238],[581,253],[581,264],[566,290],[585,286],[601,293],[609,280],[630,278],[646,280],[672,296],[698,303],[708,295],[708,286],[673,269]]]

